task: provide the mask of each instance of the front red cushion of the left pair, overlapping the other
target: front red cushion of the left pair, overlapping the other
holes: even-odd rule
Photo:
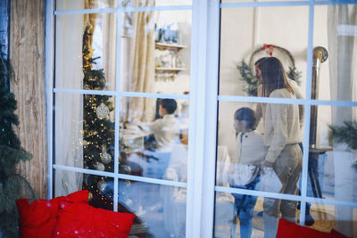
[[[134,215],[60,202],[55,237],[128,237]]]

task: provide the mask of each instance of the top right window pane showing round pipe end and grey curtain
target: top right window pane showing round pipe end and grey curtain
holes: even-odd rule
[[[357,5],[314,7],[313,82],[320,100],[357,101]],[[327,24],[328,22],[328,24]]]

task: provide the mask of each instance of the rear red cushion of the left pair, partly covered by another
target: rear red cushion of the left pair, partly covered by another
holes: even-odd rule
[[[32,203],[26,199],[19,199],[17,206],[20,213],[21,237],[52,237],[60,201],[88,204],[88,192],[84,190],[50,201],[37,200]]]

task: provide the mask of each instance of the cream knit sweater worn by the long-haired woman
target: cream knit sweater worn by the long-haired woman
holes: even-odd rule
[[[276,89],[270,97],[292,98],[286,88]],[[264,144],[269,146],[265,160],[274,162],[286,144],[302,142],[299,125],[299,108],[297,104],[267,103],[264,118]]]

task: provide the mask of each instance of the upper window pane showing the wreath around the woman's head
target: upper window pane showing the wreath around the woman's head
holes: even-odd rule
[[[222,9],[220,94],[257,95],[254,63],[271,53],[304,96],[308,22],[308,6]]]

